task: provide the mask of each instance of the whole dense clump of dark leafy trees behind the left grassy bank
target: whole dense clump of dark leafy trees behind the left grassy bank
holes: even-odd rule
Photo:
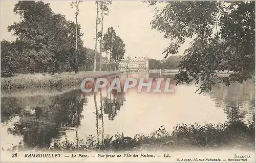
[[[17,39],[2,41],[1,76],[14,74],[51,73],[73,71],[84,64],[87,49],[81,40],[78,25],[78,54],[75,56],[76,25],[65,16],[54,14],[50,4],[34,1],[19,1],[14,10],[20,22],[8,26]],[[9,61],[10,58],[13,58]],[[14,68],[15,67],[15,68]]]

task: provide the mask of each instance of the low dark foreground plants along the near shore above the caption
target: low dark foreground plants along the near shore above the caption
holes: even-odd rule
[[[49,148],[44,150],[62,151],[132,151],[132,150],[204,150],[204,149],[242,149],[254,150],[254,116],[245,123],[241,120],[239,108],[232,108],[228,121],[219,124],[178,124],[173,131],[167,131],[164,126],[150,134],[136,134],[134,137],[123,133],[97,138],[89,135],[75,142],[55,139]],[[101,139],[101,140],[100,140]],[[28,149],[13,146],[9,150]]]

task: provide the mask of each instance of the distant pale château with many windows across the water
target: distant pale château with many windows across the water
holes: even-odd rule
[[[108,64],[110,61],[108,61]],[[111,61],[115,63],[115,61]],[[106,62],[103,61],[103,64]],[[148,57],[127,57],[119,61],[118,71],[148,71]]]

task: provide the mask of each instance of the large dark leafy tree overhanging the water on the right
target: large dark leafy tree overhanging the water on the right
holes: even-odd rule
[[[157,2],[147,2],[155,5]],[[254,76],[255,2],[165,2],[151,25],[172,41],[163,52],[177,54],[186,38],[193,38],[175,76],[177,84],[195,81],[207,92],[216,83],[243,83]],[[231,72],[228,77],[218,72]]]

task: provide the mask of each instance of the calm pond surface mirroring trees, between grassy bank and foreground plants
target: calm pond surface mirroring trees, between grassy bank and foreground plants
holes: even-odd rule
[[[147,80],[159,75],[120,75],[120,78],[128,77]],[[165,77],[173,79],[173,75]],[[137,91],[124,94],[99,89],[91,95],[73,90],[56,96],[2,97],[1,119],[9,133],[23,136],[25,146],[48,148],[54,139],[66,137],[73,141],[93,134],[103,141],[106,135],[117,132],[133,136],[150,133],[161,125],[172,130],[178,123],[222,123],[227,118],[251,120],[253,117],[254,81],[234,83],[230,87],[217,84],[203,95],[194,94],[195,90],[193,84],[184,84],[177,86],[173,95]],[[234,109],[237,106],[239,109]],[[8,140],[2,142],[12,142],[7,133],[2,137]]]

